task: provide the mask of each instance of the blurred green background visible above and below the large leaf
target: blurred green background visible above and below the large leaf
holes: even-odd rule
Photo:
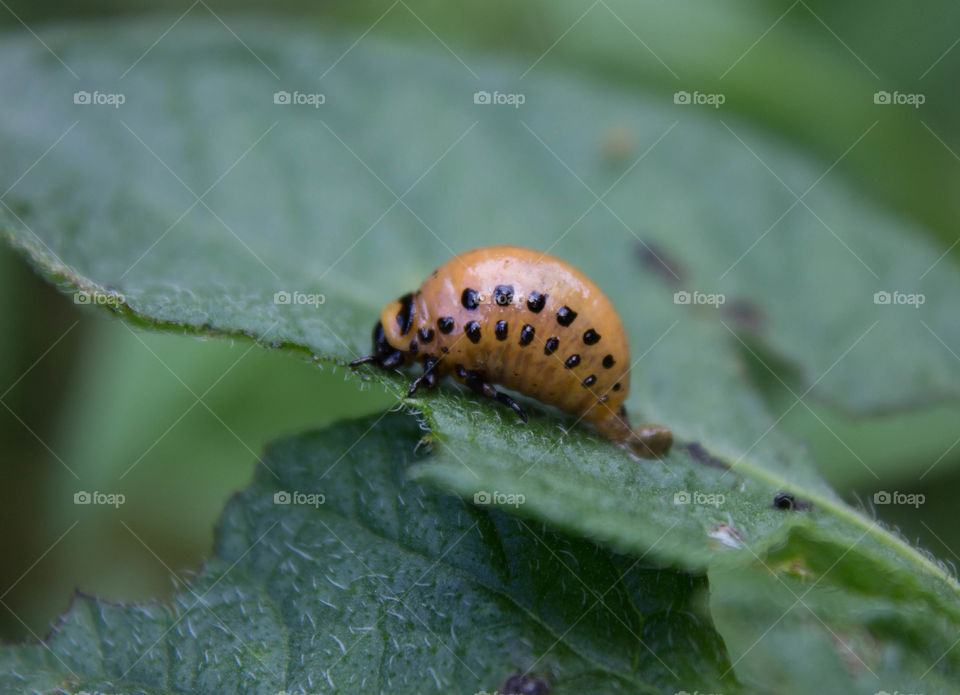
[[[957,3],[632,5],[284,1],[269,11],[345,26],[358,37],[375,25],[378,35],[434,46],[439,38],[456,52],[531,63],[544,56],[543,65],[637,90],[722,92],[724,108],[819,157],[824,169],[876,120],[875,91],[922,93],[920,109],[885,113],[869,146],[851,151],[836,174],[864,197],[923,223],[950,256],[946,262],[956,262]],[[42,38],[51,22],[150,12],[173,23],[188,12],[252,11],[266,10],[222,1],[18,0],[0,3],[0,28],[25,32],[27,25]],[[627,27],[618,17],[642,22]],[[343,370],[245,342],[128,328],[77,307],[7,249],[0,249],[0,320],[5,640],[42,636],[75,589],[124,601],[166,595],[171,570],[182,577],[208,553],[224,501],[249,480],[266,442],[391,405],[376,389],[347,382]],[[790,408],[793,397],[765,369],[754,365],[752,376],[775,415]],[[864,506],[878,490],[925,493],[929,501],[919,512],[887,506],[878,516],[940,558],[960,561],[960,528],[944,494],[960,494],[960,408],[932,405],[853,422],[811,405],[814,412],[794,407],[781,425],[813,450],[835,487]],[[129,469],[110,491],[141,502],[125,507],[122,520],[102,507],[70,504],[80,487],[64,464],[78,471],[85,489]],[[917,471],[928,469],[918,481]]]

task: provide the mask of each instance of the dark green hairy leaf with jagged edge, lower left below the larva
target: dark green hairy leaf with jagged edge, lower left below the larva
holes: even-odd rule
[[[735,686],[704,577],[424,491],[404,474],[421,435],[386,414],[275,443],[172,605],[78,596],[44,645],[0,652],[0,687],[473,693],[518,669],[557,695]]]

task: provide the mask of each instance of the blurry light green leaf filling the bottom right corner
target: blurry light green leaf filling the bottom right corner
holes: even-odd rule
[[[956,690],[956,627],[943,615],[782,569],[768,561],[711,573],[711,610],[748,686],[775,684],[785,695]]]

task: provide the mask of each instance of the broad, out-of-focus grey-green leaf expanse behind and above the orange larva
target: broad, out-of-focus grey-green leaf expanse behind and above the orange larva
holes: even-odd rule
[[[166,26],[123,26],[49,32],[79,80],[32,37],[5,42],[3,213],[48,272],[115,288],[145,321],[345,359],[367,349],[385,299],[454,251],[520,242],[598,278],[638,352],[667,319],[703,314],[739,332],[746,316],[816,397],[875,410],[960,392],[960,360],[944,345],[960,342],[947,301],[960,290],[955,267],[934,265],[940,253],[909,223],[746,124],[546,70],[520,82],[522,66],[470,57],[477,80],[448,54],[370,37],[347,51],[352,36],[257,25],[248,51],[217,22],[181,23],[143,55]],[[332,66],[322,82],[319,66]],[[478,87],[522,88],[525,103],[474,104]],[[278,90],[326,101],[277,105]],[[78,91],[125,103],[74,104]],[[212,122],[224,126],[203,137]],[[623,129],[635,145],[605,147]],[[815,182],[805,205],[788,190]],[[590,192],[608,189],[602,204]],[[638,239],[670,266],[654,261],[661,276],[722,292],[735,311],[676,306],[674,287],[639,277]],[[327,301],[277,307],[278,290]],[[877,291],[926,301],[878,306]],[[627,312],[636,297],[642,311]],[[678,428],[704,415],[686,410]]]

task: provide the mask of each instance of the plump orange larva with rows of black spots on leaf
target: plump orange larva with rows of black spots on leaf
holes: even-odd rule
[[[613,304],[583,273],[538,251],[491,246],[454,257],[384,307],[373,354],[350,366],[409,362],[424,368],[411,396],[451,375],[524,422],[494,384],[577,415],[639,456],[662,456],[673,441],[665,427],[627,422],[630,347]]]

